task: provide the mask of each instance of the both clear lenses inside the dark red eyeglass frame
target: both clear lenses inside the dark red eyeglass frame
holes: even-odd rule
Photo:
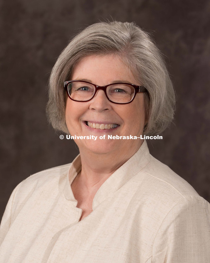
[[[132,100],[135,89],[128,84],[111,84],[107,87],[107,97],[118,103],[126,103]],[[76,101],[88,101],[95,93],[95,86],[82,81],[68,84],[69,96]]]

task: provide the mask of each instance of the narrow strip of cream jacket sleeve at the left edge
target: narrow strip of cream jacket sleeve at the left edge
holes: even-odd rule
[[[8,232],[10,225],[11,225],[11,213],[12,213],[12,205],[13,205],[13,201],[14,201],[14,197],[15,197],[15,193],[18,189],[19,185],[17,185],[15,187],[15,189],[13,190],[10,199],[6,205],[6,209],[4,211],[3,217],[2,217],[2,221],[1,221],[1,225],[0,225],[0,246],[2,244],[2,241],[4,240],[6,233]]]

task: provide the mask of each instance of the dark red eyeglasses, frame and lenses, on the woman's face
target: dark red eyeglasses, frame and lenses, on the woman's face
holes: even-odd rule
[[[143,86],[130,83],[112,83],[106,86],[97,86],[93,83],[80,80],[64,82],[69,98],[73,101],[90,101],[99,89],[102,89],[109,101],[116,104],[127,104],[134,100],[136,93],[147,92]]]

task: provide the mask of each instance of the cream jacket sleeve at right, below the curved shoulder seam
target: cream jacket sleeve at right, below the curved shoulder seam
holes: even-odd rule
[[[167,213],[153,242],[152,263],[210,262],[210,204],[183,198]]]

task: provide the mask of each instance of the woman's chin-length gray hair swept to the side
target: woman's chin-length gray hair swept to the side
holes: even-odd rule
[[[47,116],[55,130],[69,133],[65,123],[66,91],[75,65],[89,55],[119,55],[144,93],[145,135],[160,134],[174,116],[175,93],[161,52],[150,36],[135,23],[99,22],[76,35],[62,51],[49,79]]]

